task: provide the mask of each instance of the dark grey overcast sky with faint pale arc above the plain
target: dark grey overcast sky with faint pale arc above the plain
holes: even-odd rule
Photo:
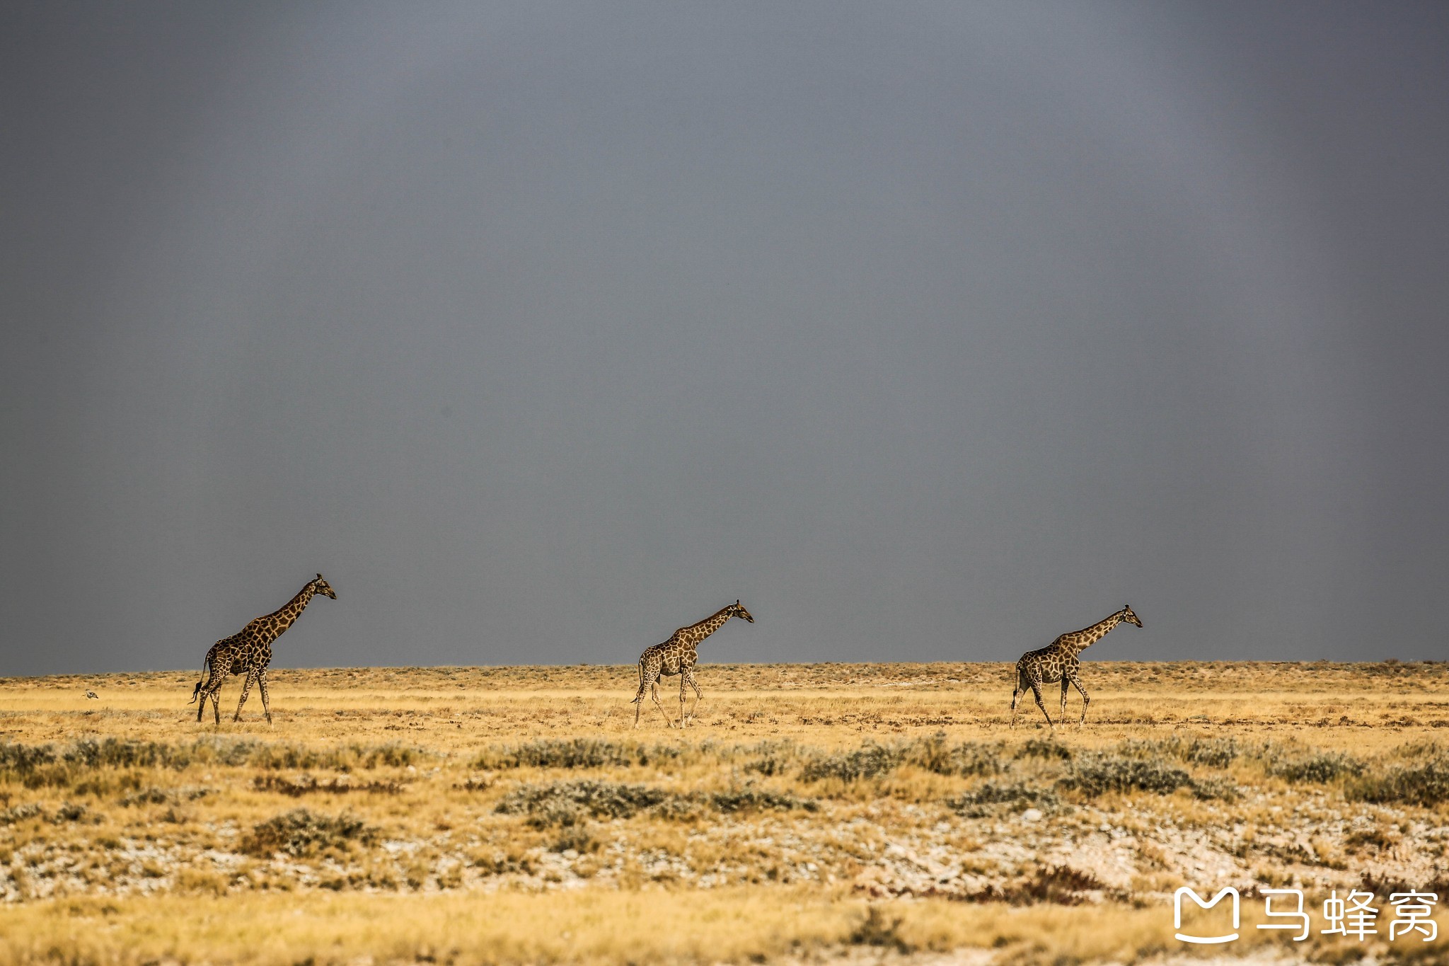
[[[0,675],[1449,656],[1449,6],[6,3]]]

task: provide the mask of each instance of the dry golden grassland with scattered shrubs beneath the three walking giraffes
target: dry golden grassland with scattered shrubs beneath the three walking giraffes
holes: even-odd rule
[[[1388,938],[1449,902],[1445,663],[1090,663],[1055,733],[994,663],[701,665],[682,731],[632,666],[274,671],[220,727],[197,676],[0,681],[0,966],[1449,962]]]

